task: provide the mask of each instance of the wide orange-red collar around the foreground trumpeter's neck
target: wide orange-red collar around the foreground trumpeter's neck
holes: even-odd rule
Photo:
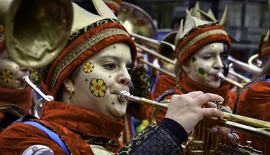
[[[125,127],[122,119],[115,121],[97,112],[79,109],[57,101],[44,103],[41,119],[56,122],[91,137],[102,137],[114,141],[118,141]]]

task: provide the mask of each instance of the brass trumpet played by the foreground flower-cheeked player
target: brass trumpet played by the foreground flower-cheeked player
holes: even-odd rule
[[[130,95],[127,90],[121,90],[118,94],[118,99],[121,101],[133,100],[143,105],[150,105],[157,107],[155,109],[167,109],[170,104],[170,100],[165,100],[165,104],[162,102],[155,102],[147,100],[142,97],[136,97]],[[155,110],[154,109],[154,110]],[[152,113],[152,116],[157,117],[158,110]],[[151,116],[151,117],[152,117]],[[220,137],[209,133],[209,129],[214,126],[228,127],[230,129],[236,129],[248,134],[253,134],[264,139],[270,139],[270,132],[264,130],[269,129],[270,122],[264,122],[259,119],[252,119],[249,117],[242,117],[237,114],[230,114],[223,112],[224,119],[217,119],[215,117],[204,118],[201,122],[194,127],[194,137],[189,137],[187,141],[182,144],[182,148],[187,154],[262,154],[261,151],[252,149],[251,146],[222,144],[219,142]],[[257,129],[264,128],[264,129]],[[266,154],[266,152],[264,152]]]

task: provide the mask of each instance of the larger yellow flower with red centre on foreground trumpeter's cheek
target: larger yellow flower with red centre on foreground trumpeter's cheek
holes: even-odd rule
[[[90,82],[89,90],[96,97],[104,97],[107,90],[107,86],[102,79],[92,79]]]

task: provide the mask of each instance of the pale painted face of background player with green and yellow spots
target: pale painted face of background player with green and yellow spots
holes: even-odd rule
[[[187,76],[199,85],[217,89],[221,80],[216,79],[215,76],[217,73],[224,73],[222,60],[227,59],[223,46],[224,43],[209,43],[192,53],[190,59],[185,62],[185,66],[188,66],[190,70]],[[196,58],[196,66],[194,66],[194,58]]]

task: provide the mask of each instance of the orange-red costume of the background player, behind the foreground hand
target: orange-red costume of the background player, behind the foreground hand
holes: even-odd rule
[[[224,107],[228,106],[230,107],[230,109],[234,109],[234,103],[237,100],[237,93],[229,91],[229,83],[223,82],[219,88],[209,89],[189,79],[189,77],[187,77],[187,75],[185,75],[184,73],[182,73],[181,80],[178,82],[177,86],[173,87],[173,90],[175,90],[175,94],[177,95],[182,95],[188,92],[193,92],[193,91],[198,91],[198,90],[204,93],[207,93],[207,92],[214,93],[214,94],[222,96],[224,98],[224,103],[222,106]],[[163,97],[162,100],[170,99],[172,95],[167,95]],[[150,121],[150,117],[151,117],[153,109],[154,107],[149,107],[149,109],[147,110],[148,121]],[[157,123],[160,123],[162,121],[162,119],[165,117],[165,114],[166,114],[166,110],[162,109],[160,114],[158,114],[157,116]]]

